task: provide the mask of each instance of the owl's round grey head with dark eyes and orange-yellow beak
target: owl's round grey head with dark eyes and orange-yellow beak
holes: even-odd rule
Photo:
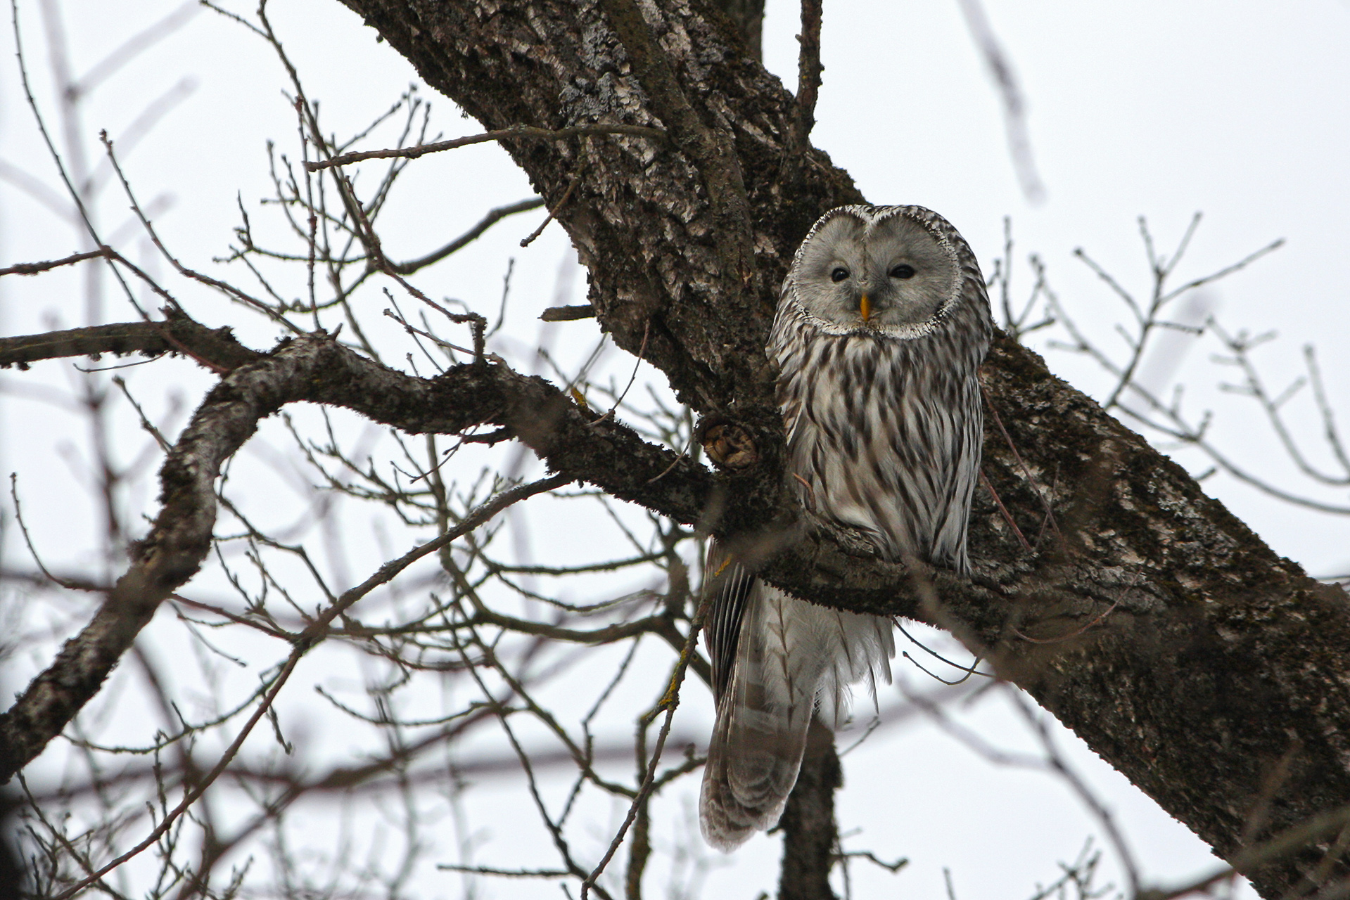
[[[784,297],[832,335],[919,337],[960,300],[953,237],[922,206],[838,206],[798,248]]]

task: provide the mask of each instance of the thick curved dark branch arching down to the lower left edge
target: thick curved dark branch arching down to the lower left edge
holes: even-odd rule
[[[196,328],[189,336],[220,339]],[[112,332],[109,340],[126,337],[126,329]],[[234,348],[236,354],[243,349]],[[89,347],[80,352],[89,352]],[[616,497],[664,509],[684,522],[699,518],[713,490],[711,478],[698,464],[583,410],[540,378],[505,366],[470,363],[420,379],[385,368],[325,336],[285,341],[273,354],[255,355],[254,362],[235,368],[197,409],[161,470],[161,511],[135,548],[130,569],[93,621],[0,716],[0,779],[8,780],[61,733],[99,691],[159,603],[197,572],[211,548],[215,479],[221,464],[262,418],[298,401],[346,406],[410,433],[500,425],[568,480],[602,483]]]

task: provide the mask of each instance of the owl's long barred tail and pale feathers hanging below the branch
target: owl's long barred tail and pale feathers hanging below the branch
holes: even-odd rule
[[[811,716],[838,727],[848,685],[891,680],[891,619],[814,606],[756,583],[745,599],[734,667],[717,703],[699,823],[730,851],[772,827],[796,784]],[[818,707],[818,710],[817,710]]]

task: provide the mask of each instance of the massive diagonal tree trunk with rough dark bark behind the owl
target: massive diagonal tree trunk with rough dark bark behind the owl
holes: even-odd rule
[[[625,138],[506,146],[551,204],[575,184],[558,217],[590,269],[601,325],[633,352],[649,329],[645,358],[680,397],[744,426],[760,451],[756,467],[724,478],[718,528],[771,536],[748,538],[752,548],[798,528],[778,491],[764,337],[774,290],[810,223],[860,196],[819,151],[791,152],[794,99],[726,38],[722,15],[699,0],[637,4],[695,116],[734,138],[757,266],[749,302],[726,291],[716,247],[724,235],[701,192],[699,161],[644,69],[662,63],[639,63],[629,35],[612,30],[621,24],[608,15],[617,0],[343,1],[487,128],[608,116],[671,130],[683,152]],[[837,541],[810,536],[765,576],[822,602],[919,614],[994,652],[1002,673],[1220,854],[1237,853],[1264,766],[1296,741],[1303,750],[1266,834],[1350,801],[1345,595],[1276,556],[1029,351],[1000,343],[986,368],[1017,448],[995,432],[987,474],[1021,530],[1040,536],[1037,553],[981,495],[973,584],[938,573],[887,595],[900,567],[883,575],[884,565],[859,564]],[[1253,880],[1277,896],[1319,858],[1312,846]],[[1323,877],[1347,873],[1338,862]]]

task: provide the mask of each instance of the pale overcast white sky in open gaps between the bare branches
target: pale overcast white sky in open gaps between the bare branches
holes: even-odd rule
[[[158,0],[116,5],[72,0],[65,8],[73,69],[88,70],[122,39],[174,7]],[[235,7],[251,11],[247,4]],[[405,61],[377,45],[374,32],[332,0],[273,0],[271,15],[309,94],[323,99],[327,125],[339,134],[359,128],[414,80]],[[1075,248],[1085,248],[1122,283],[1146,293],[1138,216],[1148,217],[1160,246],[1169,250],[1191,216],[1204,213],[1180,270],[1184,278],[1287,239],[1274,255],[1208,289],[1206,300],[1228,329],[1280,332],[1278,341],[1260,356],[1277,386],[1300,372],[1303,345],[1316,344],[1332,403],[1342,420],[1350,420],[1350,358],[1342,352],[1350,344],[1350,4],[988,0],[987,15],[1027,100],[1027,132],[1046,188],[1044,202],[1029,202],[1018,188],[998,97],[956,0],[826,0],[815,143],[853,174],[871,201],[915,202],[946,216],[986,271],[1002,247],[1003,217],[1011,216],[1021,256],[1014,275],[1019,290],[1030,285],[1030,270],[1021,264],[1025,254],[1038,252],[1066,306],[1103,343],[1114,340],[1111,328],[1126,310],[1073,258]],[[22,3],[20,19],[39,103],[54,120],[38,4]],[[765,65],[790,85],[795,84],[795,5],[770,0]],[[143,201],[165,197],[157,227],[189,264],[209,269],[211,258],[223,252],[238,223],[236,197],[255,208],[269,193],[265,142],[275,139],[288,151],[294,147],[294,119],[279,94],[281,76],[262,42],[201,12],[89,99],[82,136],[94,157],[100,128],[119,139],[150,100],[165,92],[184,93],[182,103],[134,150],[126,148],[126,167]],[[0,89],[0,159],[59,192],[16,92],[8,51]],[[448,100],[432,100],[446,136],[478,131]],[[11,170],[4,173],[9,175],[0,181],[0,266],[78,248],[70,225],[34,200],[32,192],[20,190]],[[408,181],[416,189],[400,194],[386,217],[392,256],[425,252],[464,231],[487,208],[532,194],[506,155],[489,146],[424,158]],[[100,210],[108,232],[123,224],[124,210],[124,201],[109,192]],[[505,260],[517,258],[517,306],[508,332],[517,345],[528,345],[540,333],[539,310],[556,302],[559,271],[568,271],[560,270],[570,251],[558,227],[525,251],[516,246],[539,219],[500,227],[473,254],[436,267],[423,287],[494,309]],[[123,233],[124,246],[135,247],[131,255],[153,259],[135,232]],[[51,317],[66,325],[84,322],[73,275],[15,281],[0,283],[0,333],[39,331]],[[585,285],[575,270],[567,281],[579,301]],[[185,298],[208,324],[238,318],[209,294],[185,289]],[[116,300],[103,313],[105,321],[128,314]],[[589,349],[593,325],[568,328],[554,333],[559,352]],[[263,347],[273,336],[246,328],[242,337]],[[1192,409],[1216,409],[1216,441],[1295,493],[1350,502],[1346,490],[1300,482],[1254,407],[1215,390],[1230,375],[1210,362],[1215,349],[1206,337],[1195,347],[1174,343],[1166,354],[1176,358],[1168,360],[1177,366],[1176,378],[1191,386]],[[1089,393],[1107,385],[1064,352],[1049,351],[1049,362]],[[159,378],[173,381],[189,405],[209,386],[205,375],[181,362],[161,366],[173,367]],[[132,371],[136,378],[155,378],[150,370]],[[34,374],[4,372],[0,383],[30,376],[66,383],[55,364]],[[1295,420],[1308,425],[1300,436],[1315,441],[1311,407],[1300,402],[1291,407]],[[135,422],[127,426],[130,433]],[[62,484],[70,480],[68,470],[49,463],[59,457],[58,447],[82,434],[70,434],[70,420],[61,413],[5,393],[0,393],[0,428],[3,470],[50,486],[57,498],[46,507],[50,518],[38,521],[35,529],[51,540],[70,534],[70,553],[78,556],[78,540],[88,529],[54,511],[69,509],[61,498],[66,493],[74,498],[78,490]],[[1322,448],[1312,455],[1327,459]],[[1181,459],[1193,471],[1207,466],[1193,455]],[[1350,569],[1350,518],[1291,509],[1222,475],[1207,487],[1311,572]],[[146,509],[151,499],[147,488]],[[910,681],[922,685],[913,676]],[[1027,745],[1013,712],[996,699],[983,702],[969,718],[991,739]],[[1118,807],[1146,873],[1180,877],[1207,865],[1203,846],[1184,828],[1089,752],[1075,748],[1073,758]],[[845,828],[864,828],[857,846],[913,860],[899,876],[860,874],[855,896],[938,897],[944,866],[953,870],[961,900],[1026,896],[1035,880],[1054,877],[1056,858],[1072,858],[1095,830],[1061,787],[1034,773],[988,766],[932,727],[878,735],[846,760],[845,776],[840,820]],[[733,866],[714,873],[705,896],[748,900],[768,888],[776,853],[776,839],[756,839]],[[493,891],[494,896],[544,896],[537,887],[497,885]],[[436,893],[428,889],[427,896]],[[556,896],[552,889],[547,893]]]

